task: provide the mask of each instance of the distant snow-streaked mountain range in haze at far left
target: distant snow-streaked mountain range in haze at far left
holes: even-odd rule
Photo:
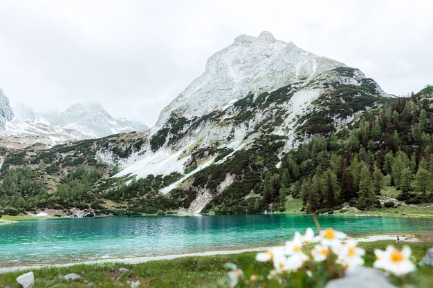
[[[73,104],[62,113],[42,114],[25,104],[10,108],[8,98],[0,90],[2,146],[23,148],[36,143],[53,146],[147,129],[145,124],[109,115],[100,104]]]

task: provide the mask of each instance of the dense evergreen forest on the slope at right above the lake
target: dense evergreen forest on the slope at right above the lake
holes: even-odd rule
[[[314,137],[287,153],[277,173],[264,177],[263,202],[284,209],[286,195],[308,211],[380,205],[384,184],[398,200],[432,201],[433,108],[427,98],[396,99],[370,111],[353,127]],[[384,183],[384,176],[389,180]]]

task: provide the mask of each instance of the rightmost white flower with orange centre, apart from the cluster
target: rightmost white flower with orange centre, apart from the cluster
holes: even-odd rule
[[[396,276],[402,276],[415,270],[414,263],[409,260],[412,251],[407,246],[399,251],[389,245],[385,251],[376,249],[374,253],[377,258],[376,262],[374,262],[375,268],[384,269]]]

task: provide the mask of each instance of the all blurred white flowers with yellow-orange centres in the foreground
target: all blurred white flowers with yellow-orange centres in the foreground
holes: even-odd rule
[[[308,245],[305,249],[302,247],[304,244],[313,243],[314,246]],[[399,251],[389,246],[385,251],[376,249],[375,254],[377,260],[374,262],[374,267],[384,269],[396,276],[402,276],[415,269],[414,264],[409,260],[411,256],[409,247]],[[322,266],[326,267],[325,273],[328,279],[341,277],[344,275],[344,270],[364,265],[362,259],[364,255],[365,250],[357,247],[356,240],[348,239],[347,235],[340,231],[324,229],[315,236],[313,229],[308,228],[304,235],[296,232],[293,240],[287,241],[284,247],[275,247],[257,253],[257,261],[273,263],[273,269],[267,276],[248,273],[246,275],[236,265],[229,264],[227,268],[231,271],[228,274],[228,286],[266,287],[266,279],[274,283],[277,281],[279,285],[287,285],[288,279],[292,279],[294,275],[304,277],[302,281],[311,278],[309,283],[314,283],[311,281],[314,281],[315,273],[320,272],[317,270],[320,262],[325,263]],[[288,278],[289,275],[291,276]],[[317,279],[320,277],[317,276]]]

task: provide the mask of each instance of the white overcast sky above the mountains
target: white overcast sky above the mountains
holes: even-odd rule
[[[263,30],[387,92],[433,84],[433,1],[0,0],[0,88],[35,111],[99,102],[153,126],[237,35]]]

